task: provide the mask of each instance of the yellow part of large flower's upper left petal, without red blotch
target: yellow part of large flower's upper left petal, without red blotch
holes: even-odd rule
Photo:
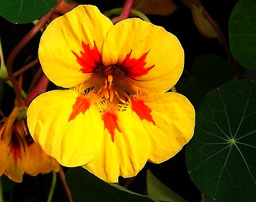
[[[84,51],[82,42],[90,49],[102,44],[111,20],[99,12],[96,6],[77,6],[72,11],[53,20],[44,31],[39,45],[39,59],[47,77],[61,87],[74,87],[87,81],[90,74],[83,73],[77,57]],[[73,53],[74,52],[74,53]]]

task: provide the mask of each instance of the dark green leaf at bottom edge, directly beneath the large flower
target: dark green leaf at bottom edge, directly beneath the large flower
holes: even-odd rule
[[[66,181],[73,202],[154,202],[148,196],[131,192],[119,185],[108,184],[82,167],[69,169]]]

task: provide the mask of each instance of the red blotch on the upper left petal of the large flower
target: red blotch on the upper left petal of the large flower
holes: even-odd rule
[[[89,44],[82,41],[82,47],[84,51],[80,51],[81,57],[75,52],[73,54],[76,55],[76,61],[83,67],[82,72],[93,73],[102,65],[102,54],[99,53],[95,43],[93,49],[90,49]]]

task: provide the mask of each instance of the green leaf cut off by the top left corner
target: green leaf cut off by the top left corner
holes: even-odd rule
[[[52,9],[57,0],[0,0],[0,15],[12,23],[30,23]]]

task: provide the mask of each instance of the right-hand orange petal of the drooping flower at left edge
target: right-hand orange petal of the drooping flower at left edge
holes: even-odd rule
[[[33,140],[31,140],[33,141]],[[33,141],[25,146],[25,170],[26,173],[35,176],[39,173],[49,173],[58,167],[58,163],[51,156],[47,156],[41,147]]]

